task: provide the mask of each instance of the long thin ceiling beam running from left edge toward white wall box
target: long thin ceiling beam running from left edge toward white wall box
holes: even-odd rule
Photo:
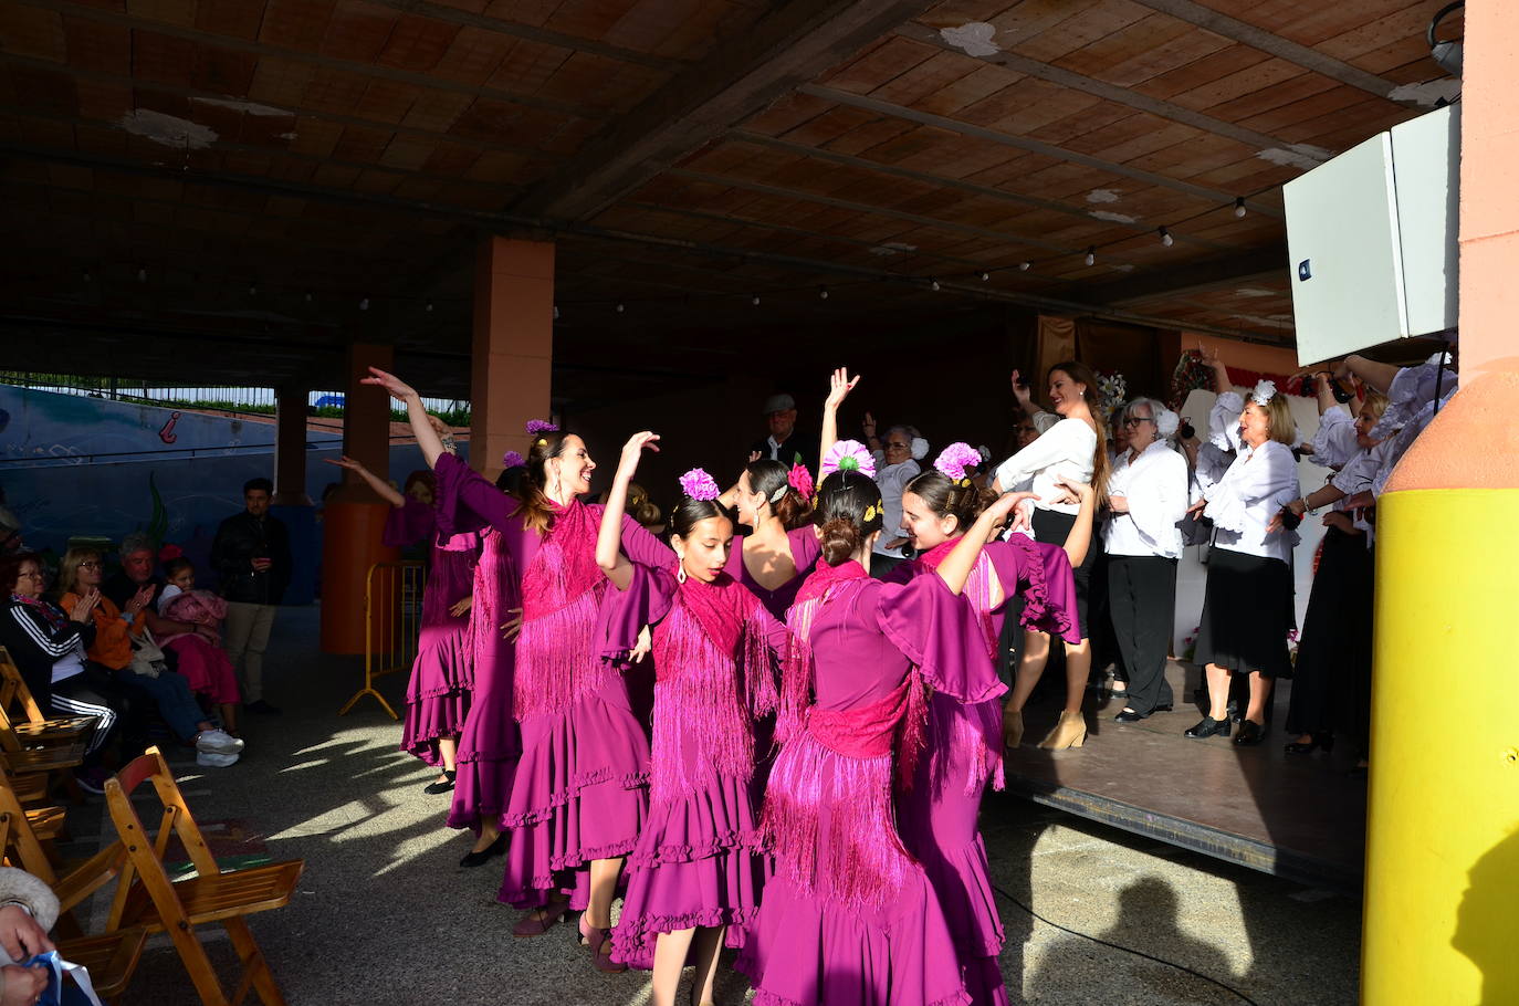
[[[87,158],[79,153],[74,153],[73,150],[47,150],[39,147],[23,147],[18,144],[0,143],[0,157],[5,155],[43,160],[58,164],[76,164],[81,167],[106,167],[128,175],[176,178],[187,182],[193,181],[194,184],[201,185],[216,185],[223,188],[242,188],[252,191],[272,191],[281,195],[307,196],[311,199],[325,199],[327,202],[333,204],[389,207],[395,211],[416,213],[419,216],[468,220],[492,233],[529,233],[529,234],[539,234],[545,239],[551,239],[556,233],[564,233],[564,234],[576,234],[580,237],[600,239],[608,242],[632,242],[636,245],[649,245],[655,248],[674,248],[697,255],[712,255],[728,260],[764,261],[775,266],[802,269],[817,274],[842,275],[855,280],[873,280],[892,284],[905,283],[917,286],[927,283],[925,277],[910,277],[896,272],[889,272],[886,269],[872,269],[867,266],[854,266],[849,263],[828,261],[822,258],[807,258],[802,255],[787,255],[782,252],[764,252],[746,248],[728,248],[722,245],[691,242],[679,237],[664,237],[659,234],[639,234],[635,231],[624,231],[618,228],[595,226],[580,220],[551,220],[541,217],[527,217],[512,213],[463,210],[460,207],[398,199],[395,196],[377,196],[369,193],[328,190],[328,188],[321,188],[317,185],[284,182],[269,178],[249,178],[245,175],[225,175],[225,173],[201,175],[194,172],[184,172],[176,169],[158,167],[152,164],[141,164],[135,161],[114,161],[99,157]],[[969,283],[958,283],[954,280],[940,280],[939,283],[943,290],[949,290],[954,293],[966,293],[975,299],[1004,301],[1009,304],[1021,304],[1024,307],[1033,307],[1036,310],[1092,315],[1095,318],[1129,321],[1136,325],[1150,325],[1157,328],[1177,327],[1177,322],[1165,318],[1156,318],[1153,315],[1138,315],[1116,307],[1104,307],[1100,304],[1083,304],[1083,302],[1042,296],[1034,293],[1021,293],[1016,290],[998,289],[986,283],[980,283],[975,286]],[[1226,339],[1244,339],[1247,342],[1262,342],[1261,336],[1246,330],[1229,330],[1229,328],[1212,328],[1212,327],[1209,328],[1194,327],[1192,330],[1205,331],[1208,334],[1223,336]],[[1273,342],[1273,345],[1276,345],[1276,342]]]

